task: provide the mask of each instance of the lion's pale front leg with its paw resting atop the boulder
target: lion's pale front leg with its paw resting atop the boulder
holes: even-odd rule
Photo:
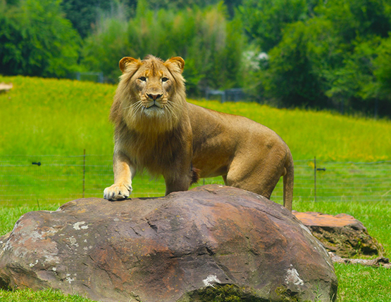
[[[104,198],[108,200],[128,198],[132,192],[132,178],[136,173],[135,166],[122,152],[115,152],[113,172],[114,184],[104,189]]]

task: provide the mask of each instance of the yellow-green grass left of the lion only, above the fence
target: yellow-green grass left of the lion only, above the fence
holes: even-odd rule
[[[115,87],[58,79],[1,77],[0,155],[111,154],[108,110]]]

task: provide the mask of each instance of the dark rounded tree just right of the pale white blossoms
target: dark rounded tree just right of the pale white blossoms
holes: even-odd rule
[[[280,107],[324,107],[323,68],[332,58],[328,50],[332,30],[327,20],[296,22],[285,30],[283,39],[269,53],[263,74],[266,96]]]

